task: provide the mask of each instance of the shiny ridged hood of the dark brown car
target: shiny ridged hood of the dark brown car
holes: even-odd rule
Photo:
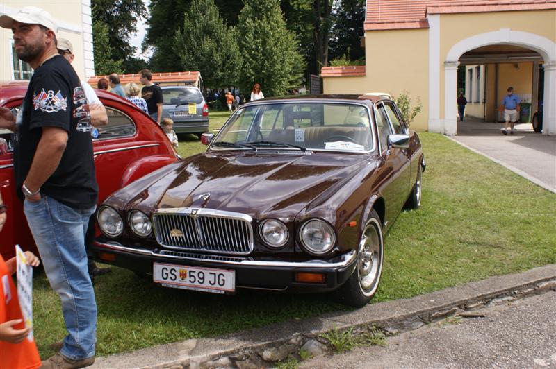
[[[174,166],[136,199],[147,209],[199,207],[291,218],[331,197],[367,159],[341,153],[205,153]]]

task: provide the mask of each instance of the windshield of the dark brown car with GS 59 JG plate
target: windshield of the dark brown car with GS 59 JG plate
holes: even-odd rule
[[[368,110],[349,103],[275,103],[240,108],[213,141],[216,148],[373,148]]]

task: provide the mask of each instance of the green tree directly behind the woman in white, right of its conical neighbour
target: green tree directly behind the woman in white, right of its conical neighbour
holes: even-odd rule
[[[265,96],[277,96],[299,85],[305,65],[299,42],[286,28],[279,0],[245,0],[238,31],[244,91],[260,83]]]

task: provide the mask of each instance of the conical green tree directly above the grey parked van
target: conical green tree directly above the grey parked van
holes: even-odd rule
[[[236,31],[220,18],[213,0],[193,0],[173,37],[183,69],[200,71],[207,87],[234,85],[240,69]]]

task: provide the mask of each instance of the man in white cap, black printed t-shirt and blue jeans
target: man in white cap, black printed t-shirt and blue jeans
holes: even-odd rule
[[[74,69],[58,55],[57,26],[48,12],[28,6],[0,15],[0,26],[11,28],[17,57],[35,70],[17,118],[0,108],[0,128],[17,132],[17,194],[67,329],[60,352],[42,368],[90,366],[97,305],[85,230],[98,197],[90,110]]]

